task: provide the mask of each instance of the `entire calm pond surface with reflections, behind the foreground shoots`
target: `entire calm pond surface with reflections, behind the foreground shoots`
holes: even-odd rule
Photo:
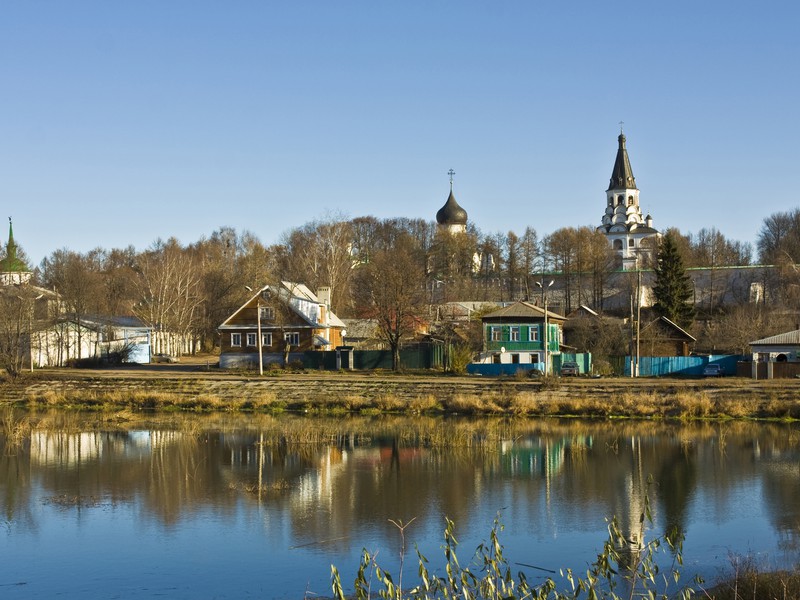
[[[800,427],[468,418],[3,413],[3,598],[329,597],[405,529],[441,567],[499,515],[531,581],[585,569],[616,516],[678,526],[685,569],[800,562]],[[652,483],[648,483],[652,479]],[[441,572],[439,573],[441,574]],[[688,583],[687,576],[686,582]]]

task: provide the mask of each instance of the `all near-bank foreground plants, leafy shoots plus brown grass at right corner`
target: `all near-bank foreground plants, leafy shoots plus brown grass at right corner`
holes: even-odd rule
[[[616,519],[608,524],[608,537],[597,558],[588,568],[577,571],[562,568],[543,583],[531,584],[524,571],[515,566],[536,569],[534,565],[511,562],[500,542],[503,526],[495,519],[489,541],[481,543],[468,564],[458,557],[458,541],[453,521],[445,518],[444,574],[431,570],[429,561],[415,548],[417,579],[411,586],[404,584],[407,558],[406,529],[408,523],[390,520],[400,533],[399,572],[395,577],[384,570],[377,553],[362,552],[353,592],[347,593],[341,573],[331,565],[331,589],[335,600],[368,600],[373,597],[392,600],[471,598],[474,600],[531,599],[531,600],[800,600],[800,569],[793,571],[764,569],[752,555],[731,554],[730,567],[720,573],[717,583],[707,587],[700,577],[681,584],[683,568],[683,535],[677,530],[638,545],[623,535]],[[645,511],[640,518],[640,533],[644,524],[652,524],[649,502],[645,496]],[[640,537],[639,539],[643,539]],[[666,564],[662,564],[666,563]]]

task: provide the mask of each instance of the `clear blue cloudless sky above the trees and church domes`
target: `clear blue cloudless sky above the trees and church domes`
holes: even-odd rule
[[[658,229],[800,204],[800,3],[0,0],[0,203],[34,264],[313,219]],[[1,223],[1,221],[0,221]],[[1,227],[1,226],[0,226]],[[5,234],[2,234],[5,237]]]

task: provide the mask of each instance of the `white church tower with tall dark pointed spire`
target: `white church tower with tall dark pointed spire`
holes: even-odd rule
[[[642,217],[639,206],[639,189],[625,148],[625,134],[620,133],[617,159],[606,190],[606,211],[603,224],[597,228],[608,237],[624,270],[644,266],[645,259],[653,255],[654,242],[660,236],[653,229],[653,217]]]

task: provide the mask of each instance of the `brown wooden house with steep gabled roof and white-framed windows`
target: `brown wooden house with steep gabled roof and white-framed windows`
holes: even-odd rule
[[[257,366],[259,332],[264,362],[277,363],[288,352],[341,346],[344,329],[328,302],[306,286],[288,281],[266,285],[219,326],[219,365]]]

